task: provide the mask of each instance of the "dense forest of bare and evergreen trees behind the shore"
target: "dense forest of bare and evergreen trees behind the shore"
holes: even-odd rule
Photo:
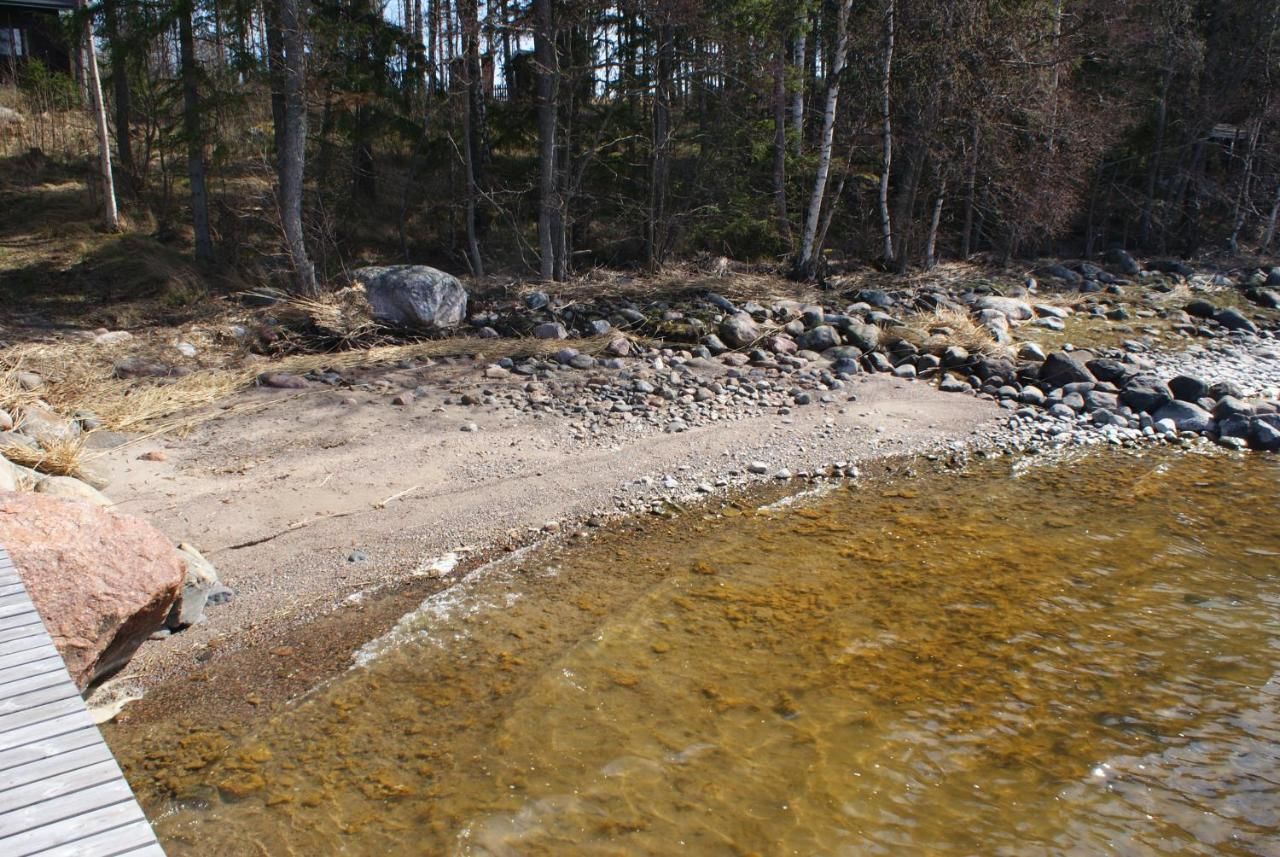
[[[63,27],[95,37],[124,223],[301,293],[362,261],[820,279],[1276,243],[1274,0],[102,0]],[[74,106],[83,60],[14,68],[20,106]]]

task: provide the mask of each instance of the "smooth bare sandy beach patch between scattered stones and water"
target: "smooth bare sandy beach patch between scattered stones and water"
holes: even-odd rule
[[[145,693],[123,715],[134,723],[209,716],[210,698],[228,716],[261,712],[346,669],[360,643],[462,572],[518,544],[581,537],[621,498],[684,504],[699,482],[722,481],[723,501],[750,484],[776,487],[782,467],[919,452],[984,432],[1000,413],[927,381],[860,376],[856,400],[786,416],[575,437],[566,416],[453,404],[480,368],[433,367],[407,407],[376,388],[250,390],[186,437],[105,450],[97,463],[118,508],[198,546],[236,595],[205,623],[146,643],[91,702]],[[462,431],[468,422],[475,431]],[[142,458],[154,452],[163,460]],[[749,476],[753,460],[771,476]],[[681,489],[664,490],[668,478]],[[449,553],[457,568],[431,572]]]

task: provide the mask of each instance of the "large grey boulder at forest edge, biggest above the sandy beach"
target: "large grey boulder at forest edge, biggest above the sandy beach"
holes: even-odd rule
[[[467,315],[467,292],[452,274],[426,265],[356,269],[374,318],[397,327],[453,327]]]

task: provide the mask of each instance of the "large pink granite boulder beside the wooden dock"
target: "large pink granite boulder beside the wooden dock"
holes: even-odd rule
[[[164,625],[184,574],[151,524],[41,494],[0,494],[0,545],[81,689]]]

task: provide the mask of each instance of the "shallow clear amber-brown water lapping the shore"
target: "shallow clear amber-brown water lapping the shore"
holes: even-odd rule
[[[174,856],[1277,854],[1277,509],[1152,453],[680,521],[118,750]]]

